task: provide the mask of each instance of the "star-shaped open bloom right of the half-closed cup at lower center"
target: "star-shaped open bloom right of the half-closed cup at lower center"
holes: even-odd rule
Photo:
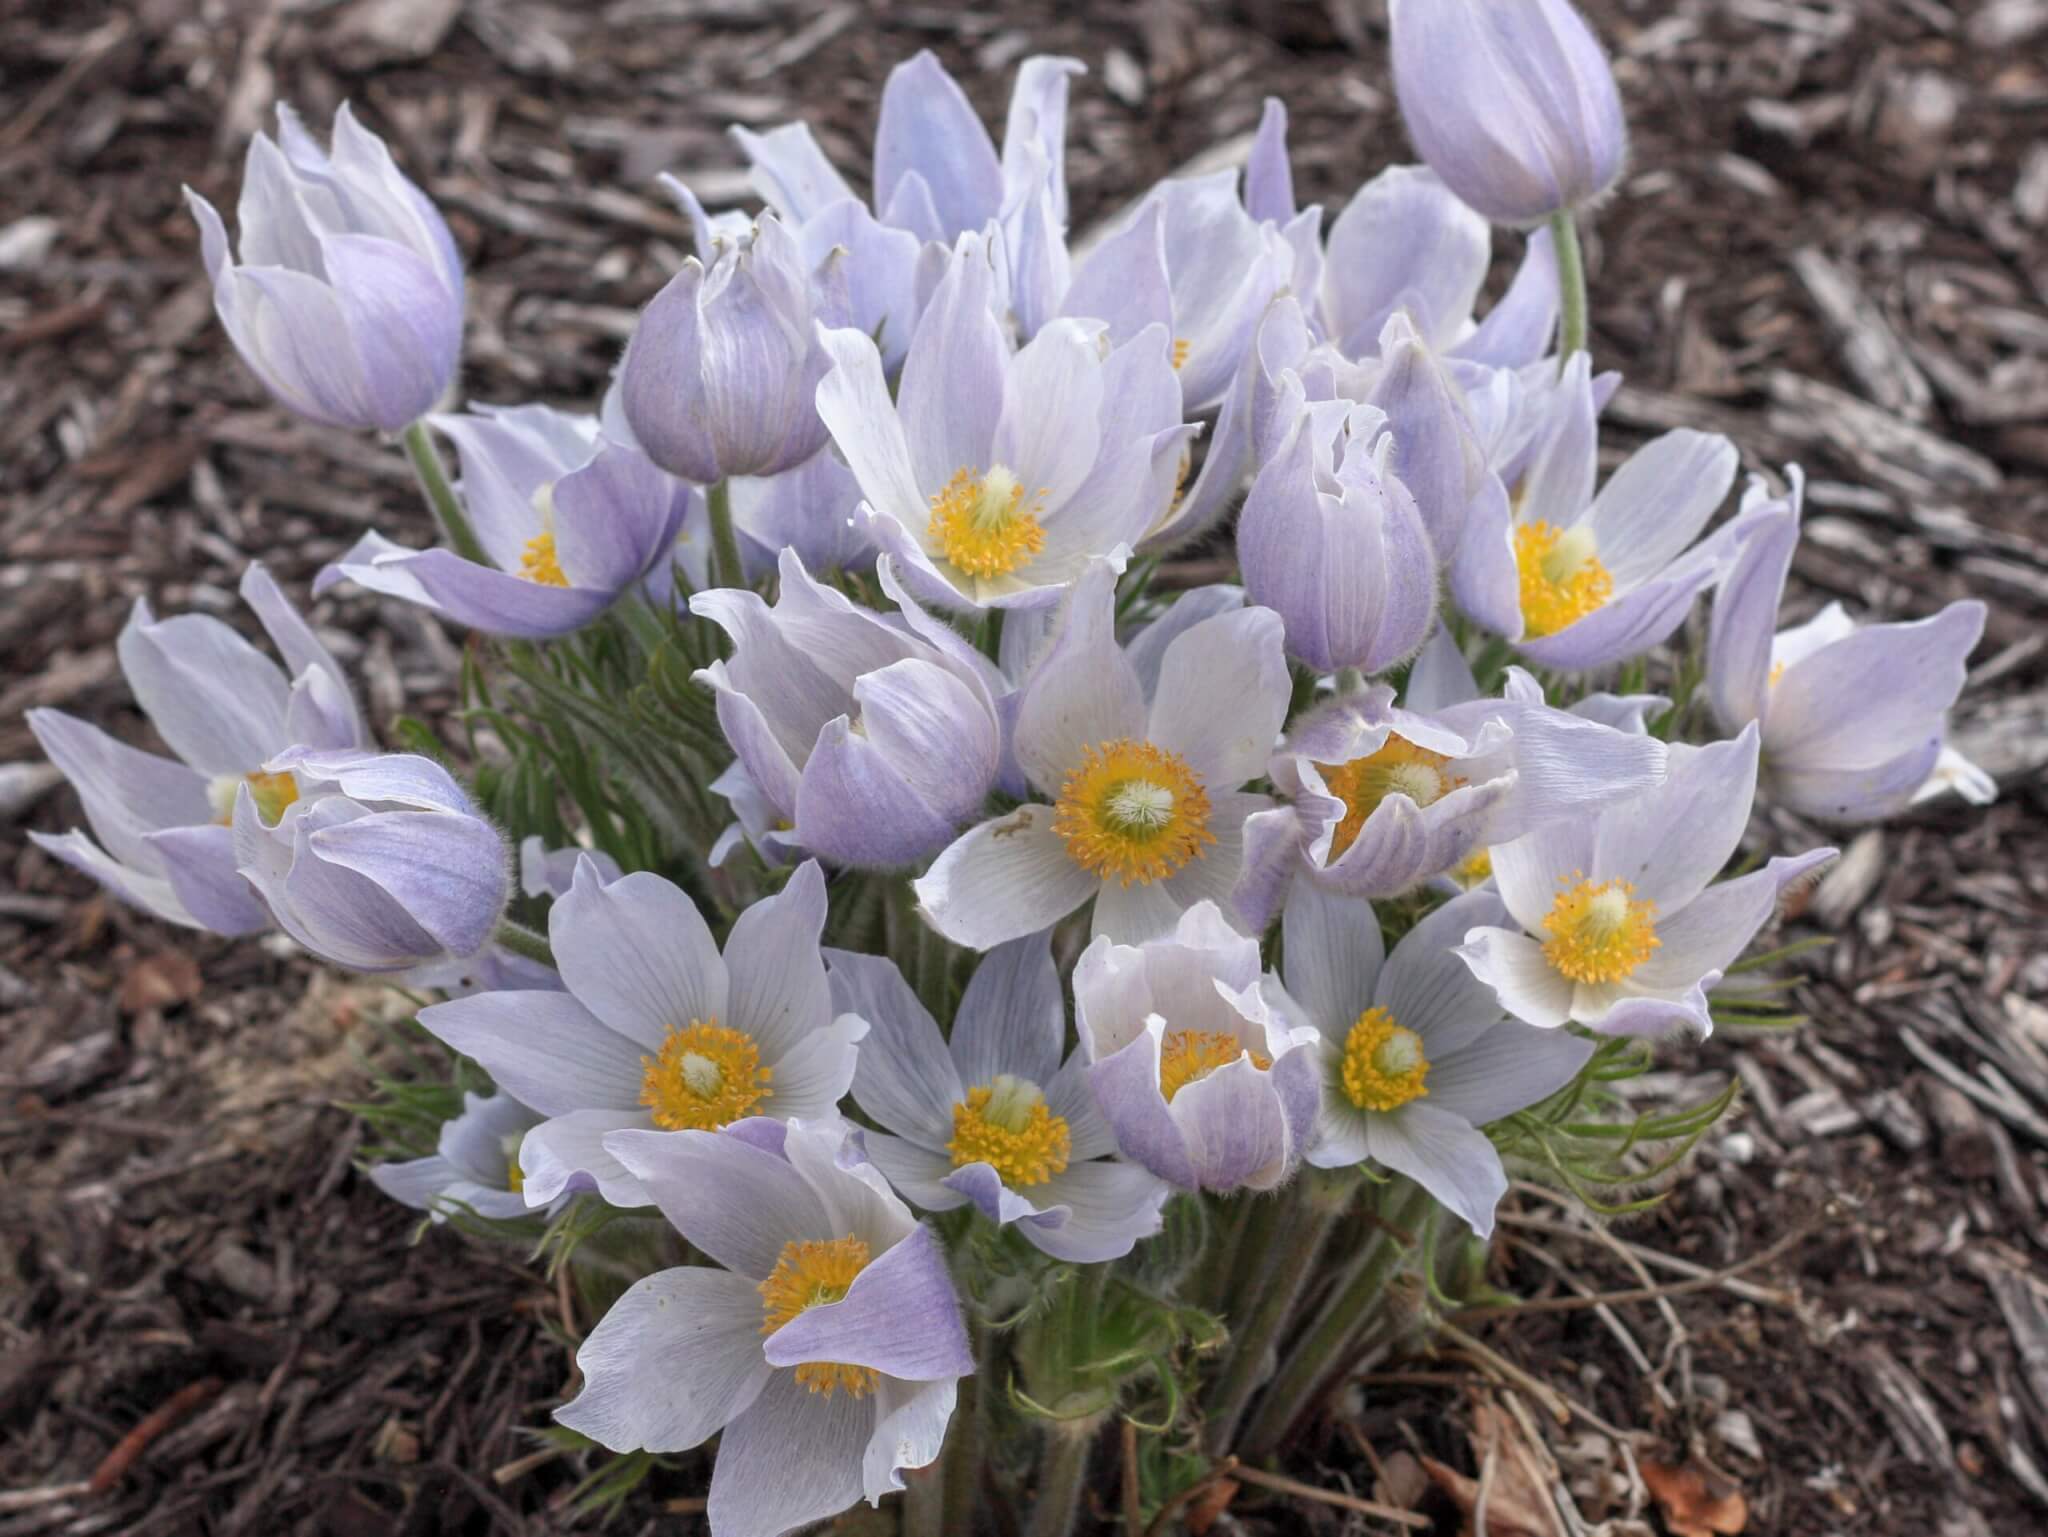
[[[1288,896],[1286,992],[1317,1027],[1323,1113],[1309,1162],[1372,1160],[1407,1174],[1485,1238],[1507,1191],[1481,1127],[1569,1084],[1593,1043],[1509,1021],[1456,955],[1468,928],[1505,922],[1466,891],[1415,924],[1393,955],[1366,902],[1309,881]]]

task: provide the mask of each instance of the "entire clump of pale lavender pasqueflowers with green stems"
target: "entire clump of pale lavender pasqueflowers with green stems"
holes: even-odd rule
[[[168,922],[434,994],[418,1025],[494,1092],[451,1086],[371,1170],[397,1201],[569,1262],[592,1213],[674,1228],[668,1269],[600,1256],[637,1279],[557,1418],[618,1453],[717,1435],[721,1537],[946,1447],[971,1506],[977,1369],[1012,1391],[973,1414],[1055,1451],[1143,1396],[1272,1451],[1399,1269],[1374,1254],[1489,1236],[1511,1170],[1636,1178],[1581,1135],[1624,1125],[1606,1086],[1714,1029],[1833,853],[1731,875],[1759,797],[1843,824],[1993,793],[1944,738],[1980,605],[1780,629],[1796,467],[1731,510],[1735,445],[1669,432],[1599,484],[1577,221],[1624,131],[1585,23],[1391,20],[1427,164],[1327,234],[1268,102],[1243,176],[1071,240],[1073,59],[1020,66],[999,148],[901,64],[870,199],[805,125],[735,129],[766,209],[674,184],[698,250],[590,414],[444,408],[457,248],[346,109],[332,150],[289,111],[252,146],[238,260],[193,197],[250,369],[401,437],[436,516],[313,592],[481,631],[494,730],[379,752],[252,568],[283,664],[145,605],[121,635],[172,756],[31,715],[90,824],[39,842]],[[1477,314],[1495,223],[1528,234]],[[1198,539],[1235,580],[1176,559]],[[1075,1478],[1049,1453],[1036,1531]]]

